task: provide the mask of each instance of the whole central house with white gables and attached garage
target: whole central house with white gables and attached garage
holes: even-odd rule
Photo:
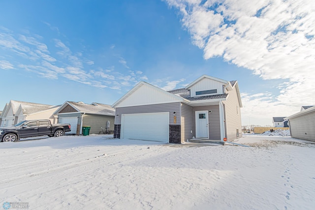
[[[114,138],[182,143],[193,137],[232,141],[242,136],[237,81],[203,75],[173,91],[142,81],[112,106]]]

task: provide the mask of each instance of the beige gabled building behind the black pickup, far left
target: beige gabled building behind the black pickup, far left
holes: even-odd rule
[[[32,119],[49,119],[52,123],[56,123],[57,118],[54,117],[53,113],[57,108],[59,106],[11,100],[5,105],[0,115],[0,127],[9,127],[23,120]]]

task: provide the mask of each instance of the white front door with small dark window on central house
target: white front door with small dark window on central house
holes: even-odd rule
[[[209,138],[208,111],[196,111],[196,138]]]

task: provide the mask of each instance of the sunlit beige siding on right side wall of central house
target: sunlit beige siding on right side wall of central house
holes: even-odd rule
[[[228,91],[226,101],[223,101],[225,107],[225,126],[226,138],[228,141],[237,139],[238,129],[239,137],[242,137],[241,110],[237,97],[236,88]]]

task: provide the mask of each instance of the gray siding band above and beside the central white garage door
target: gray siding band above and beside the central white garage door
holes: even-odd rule
[[[115,124],[122,123],[122,114],[139,114],[139,113],[155,113],[155,112],[169,112],[169,124],[180,125],[180,106],[181,103],[156,104],[156,105],[140,105],[116,108]],[[174,115],[173,112],[176,111]],[[118,116],[117,116],[118,115]],[[176,123],[174,123],[174,116],[176,116]]]

